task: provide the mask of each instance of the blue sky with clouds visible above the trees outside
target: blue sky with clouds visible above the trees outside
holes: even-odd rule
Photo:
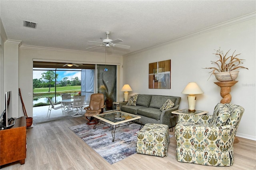
[[[46,70],[34,70],[33,71],[33,79],[40,79],[42,77],[42,73],[46,73]],[[61,81],[64,77],[68,77],[68,80],[72,80],[72,78],[78,77],[81,80],[81,71],[56,71],[59,74],[57,81]]]

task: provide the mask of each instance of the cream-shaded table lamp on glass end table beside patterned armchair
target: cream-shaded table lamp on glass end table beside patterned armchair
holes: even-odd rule
[[[190,82],[181,93],[188,95],[188,111],[190,113],[194,113],[196,111],[196,94],[202,94],[204,92],[200,89],[196,82]]]

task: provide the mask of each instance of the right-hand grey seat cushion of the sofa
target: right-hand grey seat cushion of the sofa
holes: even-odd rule
[[[145,117],[149,117],[152,119],[156,119],[158,121],[158,120],[160,120],[162,111],[160,111],[159,109],[156,109],[156,108],[145,107],[145,108],[138,109],[137,114],[145,116]]]

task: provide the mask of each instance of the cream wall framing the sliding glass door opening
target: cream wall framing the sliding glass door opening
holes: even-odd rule
[[[18,82],[28,117],[33,115],[33,96],[28,96],[28,93],[33,93],[33,59],[37,61],[105,64],[105,54],[21,46],[19,49]],[[106,64],[122,65],[122,56],[107,55]],[[117,69],[118,75],[122,75],[122,67],[118,66]],[[118,88],[122,88],[120,87],[122,83],[119,84],[122,82],[122,77],[119,76],[117,82]],[[24,116],[20,102],[19,116]]]

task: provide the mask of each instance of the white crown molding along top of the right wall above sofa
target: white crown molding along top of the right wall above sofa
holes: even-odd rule
[[[253,13],[250,13],[250,14],[247,14],[245,16],[238,17],[238,18],[234,18],[232,20],[228,20],[226,22],[222,22],[220,24],[216,24],[214,26],[210,26],[210,27],[204,28],[202,30],[195,31],[195,32],[186,34],[184,36],[180,36],[178,38],[174,38],[172,40],[168,40],[166,42],[158,43],[156,45],[152,45],[150,47],[147,47],[147,48],[144,48],[144,49],[141,49],[141,50],[138,50],[138,51],[134,51],[132,53],[125,54],[123,56],[126,57],[128,55],[132,55],[132,54],[136,54],[136,53],[141,53],[143,51],[147,51],[149,49],[154,49],[154,48],[157,48],[157,47],[168,45],[170,43],[179,42],[181,40],[185,40],[185,39],[188,39],[188,38],[191,38],[191,37],[194,37],[194,36],[198,36],[198,35],[201,35],[201,34],[204,34],[204,33],[207,33],[207,32],[218,30],[220,28],[224,28],[224,27],[227,27],[227,26],[238,24],[240,22],[244,22],[244,21],[251,20],[251,19],[254,19],[254,18],[256,18],[256,12],[253,12]]]

